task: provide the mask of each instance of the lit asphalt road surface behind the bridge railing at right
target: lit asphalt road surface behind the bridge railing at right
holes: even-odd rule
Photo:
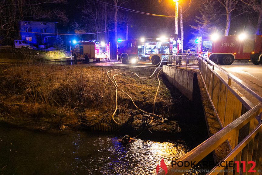
[[[262,65],[253,65],[252,63],[235,62],[233,65],[220,65],[227,72],[235,75],[246,83],[246,86],[262,97]],[[226,77],[225,77],[226,78]],[[255,106],[259,103],[253,95],[247,93],[238,84],[232,82],[232,88],[238,91],[240,96],[247,98],[250,105]]]

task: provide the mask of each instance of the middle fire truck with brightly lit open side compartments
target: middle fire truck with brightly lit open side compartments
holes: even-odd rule
[[[177,51],[179,44],[174,38],[148,38],[141,40],[118,40],[117,60],[123,64],[137,61],[151,61],[157,65],[161,59]],[[166,60],[165,60],[166,61]]]

